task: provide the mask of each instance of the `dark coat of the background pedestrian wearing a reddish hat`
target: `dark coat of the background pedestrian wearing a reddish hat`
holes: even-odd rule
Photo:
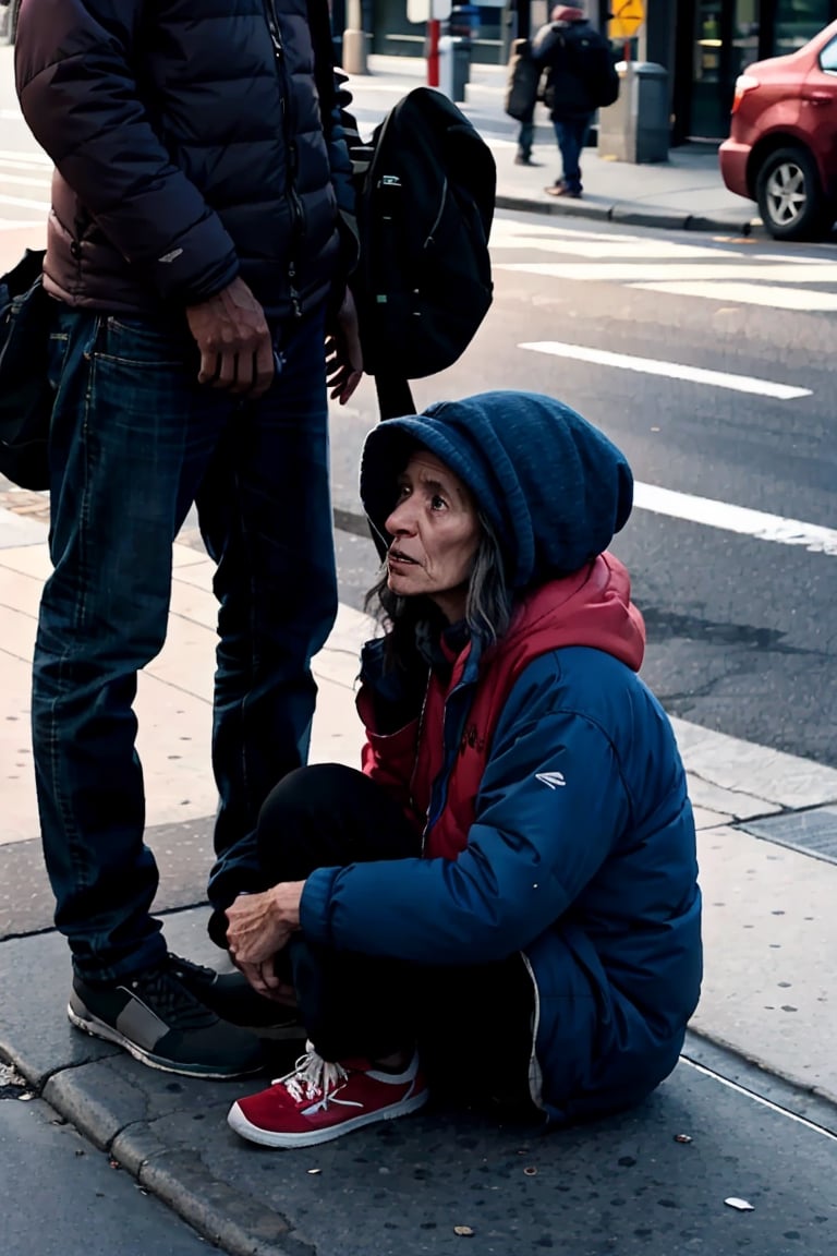
[[[541,26],[532,59],[547,70],[543,103],[556,122],[590,117],[609,95],[602,84],[616,78],[607,40],[586,19]]]

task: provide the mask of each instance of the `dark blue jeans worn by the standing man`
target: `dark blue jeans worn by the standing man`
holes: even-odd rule
[[[323,314],[282,348],[285,369],[248,403],[197,383],[183,320],[58,317],[33,742],[55,923],[92,981],[166,953],[132,705],[166,639],[172,541],[193,501],[217,564],[218,853],[307,755],[310,659],[336,613]]]

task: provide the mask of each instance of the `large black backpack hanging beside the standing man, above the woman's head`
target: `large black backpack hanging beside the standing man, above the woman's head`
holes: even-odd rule
[[[494,158],[456,104],[427,87],[394,106],[369,148],[351,284],[365,368],[419,379],[461,357],[491,305]]]

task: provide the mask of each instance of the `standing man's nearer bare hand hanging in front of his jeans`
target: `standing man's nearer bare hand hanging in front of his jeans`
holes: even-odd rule
[[[265,313],[243,279],[186,310],[201,350],[198,383],[261,397],[274,378],[274,347]]]

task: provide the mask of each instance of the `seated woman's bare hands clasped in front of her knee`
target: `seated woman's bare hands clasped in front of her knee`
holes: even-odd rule
[[[287,990],[276,976],[274,956],[299,928],[304,885],[302,880],[281,882],[264,894],[240,894],[227,907],[232,962],[257,993],[280,1002],[286,1001]]]

